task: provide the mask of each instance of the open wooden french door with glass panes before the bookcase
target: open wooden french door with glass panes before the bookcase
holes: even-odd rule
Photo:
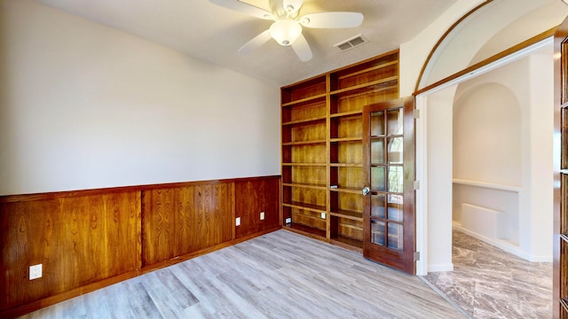
[[[414,275],[414,97],[363,109],[363,255]]]

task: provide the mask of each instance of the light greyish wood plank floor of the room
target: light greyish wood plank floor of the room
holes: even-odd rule
[[[416,276],[278,230],[29,318],[463,318]]]

